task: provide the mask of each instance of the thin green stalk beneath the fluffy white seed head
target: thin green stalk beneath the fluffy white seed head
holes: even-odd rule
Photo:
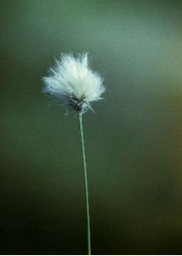
[[[79,126],[80,126],[80,136],[82,141],[82,163],[83,163],[83,171],[84,171],[85,195],[86,195],[86,204],[87,204],[88,255],[91,255],[90,218],[89,218],[89,201],[88,201],[88,173],[87,173],[87,164],[86,164],[86,158],[85,158],[84,137],[83,137],[83,131],[82,131],[82,113],[79,113],[78,119],[79,119]]]

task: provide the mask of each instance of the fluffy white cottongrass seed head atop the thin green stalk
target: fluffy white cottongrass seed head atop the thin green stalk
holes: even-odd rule
[[[77,58],[60,55],[43,82],[43,92],[59,97],[66,108],[79,113],[92,109],[91,102],[100,100],[105,92],[103,78],[89,67],[88,54],[77,55]]]

